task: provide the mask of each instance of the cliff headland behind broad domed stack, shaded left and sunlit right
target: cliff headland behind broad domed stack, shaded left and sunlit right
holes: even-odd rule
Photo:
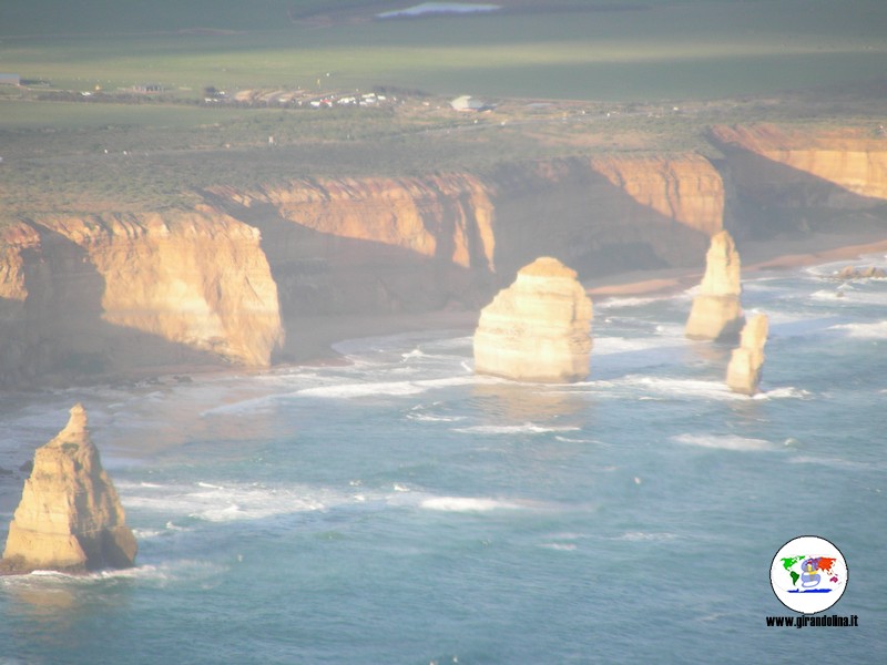
[[[540,254],[580,279],[626,266],[696,265],[723,225],[723,183],[693,154],[502,166],[490,182],[500,284]]]

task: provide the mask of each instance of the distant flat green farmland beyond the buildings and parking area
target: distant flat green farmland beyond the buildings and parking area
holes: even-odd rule
[[[201,3],[183,3],[191,11],[160,3],[150,17],[33,4],[54,11],[38,20],[20,9],[18,29],[16,14],[4,22],[0,68],[74,90],[156,82],[198,95],[206,85],[318,89],[319,80],[323,88],[435,94],[715,99],[866,80],[887,59],[887,3],[877,0],[856,1],[854,11],[835,2],[812,11],[799,0],[641,2],[622,11],[574,2],[584,9],[386,21],[368,20],[369,11],[325,27],[290,20],[276,1],[251,3],[248,12],[235,11],[237,3],[203,12]],[[310,14],[312,3],[300,8]],[[60,27],[67,31],[50,37]]]

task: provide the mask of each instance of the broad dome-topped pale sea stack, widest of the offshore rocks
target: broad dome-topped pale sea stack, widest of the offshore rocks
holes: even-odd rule
[[[575,270],[557,258],[537,258],[481,310],[475,371],[517,381],[581,381],[589,375],[591,318]]]

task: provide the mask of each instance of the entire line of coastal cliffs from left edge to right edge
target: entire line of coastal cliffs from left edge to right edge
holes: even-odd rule
[[[218,184],[192,211],[22,215],[0,226],[0,386],[264,367],[300,357],[306,317],[478,309],[540,255],[587,280],[699,266],[724,228],[742,243],[884,217],[878,140],[766,125],[711,139],[723,158],[294,177]]]

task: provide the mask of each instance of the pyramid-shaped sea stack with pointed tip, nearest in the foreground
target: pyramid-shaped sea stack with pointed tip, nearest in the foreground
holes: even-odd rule
[[[90,439],[86,411],[78,403],[64,429],[34,453],[0,572],[129,567],[135,552],[116,490]]]

